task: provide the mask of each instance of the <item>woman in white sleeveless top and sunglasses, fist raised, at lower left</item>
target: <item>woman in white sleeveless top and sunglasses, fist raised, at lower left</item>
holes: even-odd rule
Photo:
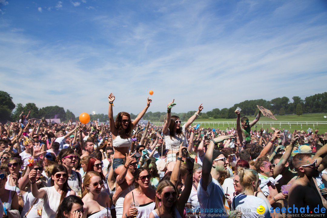
[[[43,198],[42,217],[54,218],[60,202],[75,192],[68,186],[68,172],[63,165],[56,164],[51,173],[51,187],[38,189],[36,184],[37,170],[33,169],[28,177],[34,197]]]

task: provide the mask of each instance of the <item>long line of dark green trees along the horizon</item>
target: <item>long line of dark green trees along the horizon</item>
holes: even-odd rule
[[[292,102],[287,97],[274,98],[270,101],[264,99],[257,100],[246,100],[235,104],[231,108],[223,109],[212,109],[206,113],[201,113],[200,118],[225,118],[231,119],[236,118],[234,113],[237,107],[242,109],[241,116],[251,116],[256,115],[259,111],[256,105],[263,106],[271,110],[272,113],[278,115],[285,114],[298,114],[302,113],[325,113],[327,112],[327,92],[321,94],[315,94],[306,97],[304,100],[299,96],[294,96]],[[12,102],[12,97],[7,92],[0,91],[0,122],[6,123],[7,121],[18,121],[20,119],[19,115],[22,111],[27,115],[28,111],[31,111],[29,115],[30,118],[41,119],[53,119],[60,118],[60,121],[67,122],[72,119],[73,122],[78,120],[75,114],[70,110],[65,110],[63,107],[59,106],[48,106],[44,108],[38,108],[34,103],[27,103],[25,106],[18,103],[15,105]],[[15,109],[15,110],[13,110]],[[172,113],[172,115],[177,115],[181,120],[186,121],[190,118],[196,111],[188,111],[186,113]],[[131,119],[135,119],[137,115],[131,113]],[[163,122],[166,112],[147,112],[143,119],[151,121],[161,121]],[[108,114],[90,114],[91,121],[99,119],[100,122],[106,122],[108,120]]]

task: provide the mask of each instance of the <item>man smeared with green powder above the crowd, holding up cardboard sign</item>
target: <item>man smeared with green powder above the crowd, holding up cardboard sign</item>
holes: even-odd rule
[[[237,136],[239,138],[240,142],[243,142],[243,140],[246,141],[246,143],[250,143],[251,141],[251,127],[254,126],[260,119],[261,111],[259,110],[258,115],[255,117],[255,119],[249,123],[249,118],[242,117],[241,124],[240,125],[240,111],[236,110],[235,113],[237,114],[237,120],[236,120],[236,130],[237,130]]]

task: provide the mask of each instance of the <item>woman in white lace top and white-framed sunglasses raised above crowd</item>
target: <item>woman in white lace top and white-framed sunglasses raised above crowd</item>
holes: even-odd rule
[[[174,99],[175,100],[175,99]],[[164,141],[166,143],[167,152],[167,162],[176,160],[176,153],[180,148],[180,144],[183,142],[187,146],[186,141],[186,130],[188,127],[195,121],[199,116],[199,113],[202,111],[203,106],[200,104],[198,111],[194,113],[188,121],[181,126],[181,120],[178,116],[171,116],[171,108],[175,105],[174,100],[167,106],[167,120],[163,125],[162,133],[164,135]]]

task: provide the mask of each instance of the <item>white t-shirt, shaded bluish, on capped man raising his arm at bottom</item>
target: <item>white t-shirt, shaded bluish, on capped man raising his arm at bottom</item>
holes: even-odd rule
[[[198,201],[200,203],[201,216],[209,217],[211,214],[218,214],[219,217],[227,217],[223,203],[224,191],[217,180],[212,178],[205,191],[202,188],[202,178],[198,184]],[[203,212],[202,212],[203,211]]]

